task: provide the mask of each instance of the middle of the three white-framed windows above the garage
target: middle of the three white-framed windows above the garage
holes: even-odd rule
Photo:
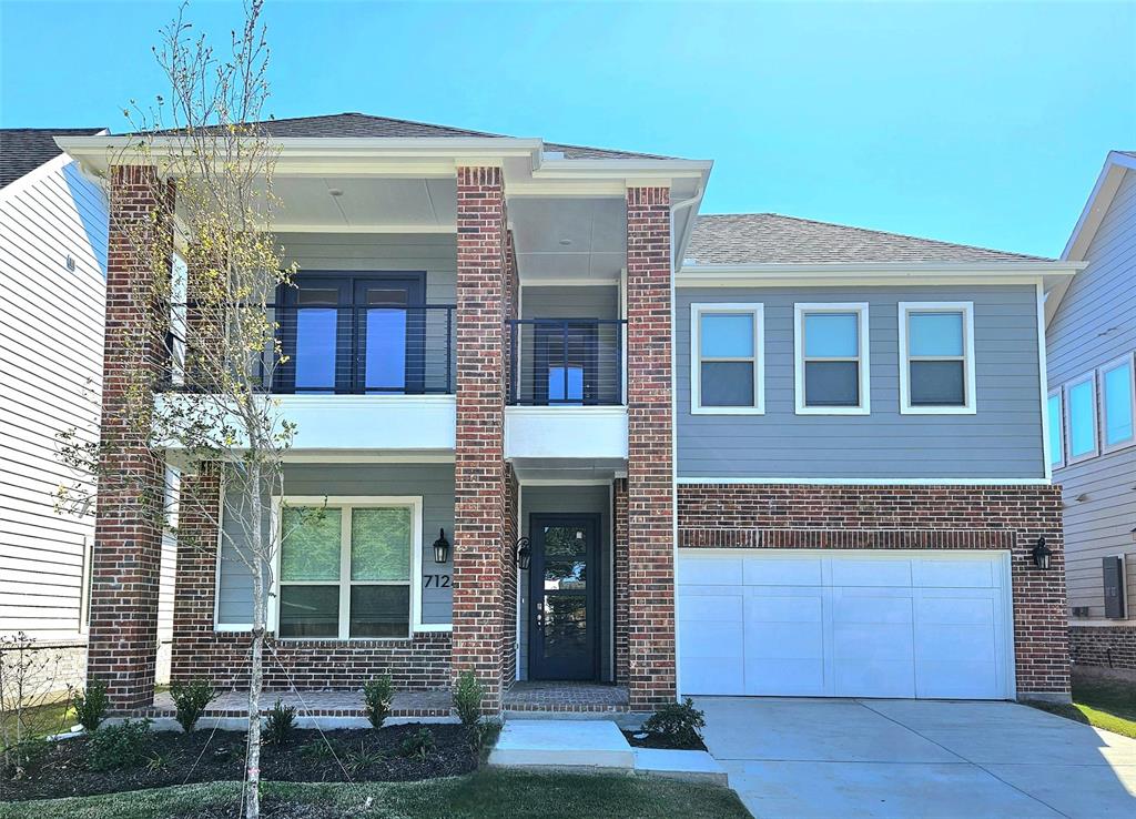
[[[868,415],[868,304],[796,304],[793,329],[797,415]]]

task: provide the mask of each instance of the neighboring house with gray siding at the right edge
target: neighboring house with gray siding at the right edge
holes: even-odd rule
[[[1074,662],[1136,670],[1136,152],[1112,151],[1046,303]]]

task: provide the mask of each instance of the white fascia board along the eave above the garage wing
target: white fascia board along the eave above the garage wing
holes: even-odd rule
[[[830,262],[824,265],[684,265],[678,286],[776,286],[862,284],[1001,284],[1038,277],[1067,277],[1085,267],[1076,261],[997,262]]]

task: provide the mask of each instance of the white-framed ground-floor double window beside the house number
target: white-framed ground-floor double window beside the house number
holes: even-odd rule
[[[421,619],[420,499],[289,499],[278,521],[281,637],[410,636]]]

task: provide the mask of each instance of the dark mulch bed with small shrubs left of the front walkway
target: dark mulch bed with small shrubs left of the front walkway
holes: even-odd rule
[[[286,745],[264,745],[260,776],[266,782],[407,782],[457,776],[477,768],[477,755],[460,725],[425,726],[434,735],[434,750],[425,759],[400,755],[403,738],[423,727],[411,724],[381,730],[324,732],[337,761],[318,730],[296,729]],[[244,771],[244,732],[154,732],[147,750],[150,762],[108,771],[87,768],[86,743],[85,737],[51,743],[50,752],[31,776],[0,779],[0,797],[19,801],[87,796],[185,783],[240,780]]]

